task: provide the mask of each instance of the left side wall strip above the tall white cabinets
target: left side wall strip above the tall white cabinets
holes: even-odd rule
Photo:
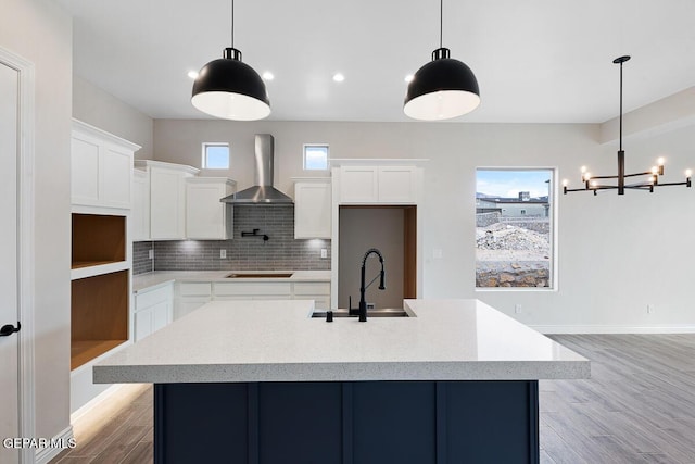
[[[142,147],[137,160],[152,159],[152,118],[79,76],[73,76],[73,116]]]

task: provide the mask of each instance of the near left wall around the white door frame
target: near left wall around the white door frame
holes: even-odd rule
[[[2,12],[0,47],[36,73],[36,436],[54,437],[70,426],[72,22],[48,0],[3,0]]]

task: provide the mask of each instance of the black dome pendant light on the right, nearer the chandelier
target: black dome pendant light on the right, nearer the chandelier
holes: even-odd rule
[[[439,48],[432,52],[432,61],[415,73],[405,96],[403,111],[414,120],[451,120],[480,104],[476,75],[465,63],[450,58],[450,50],[442,47],[443,3],[440,0]]]

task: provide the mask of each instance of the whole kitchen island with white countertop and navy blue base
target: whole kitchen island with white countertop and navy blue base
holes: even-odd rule
[[[155,462],[538,462],[538,380],[589,361],[477,300],[404,308],[327,323],[311,301],[211,302],[94,381],[155,384]]]

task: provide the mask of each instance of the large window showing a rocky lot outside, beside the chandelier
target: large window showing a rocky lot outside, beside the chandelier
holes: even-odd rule
[[[555,172],[476,172],[476,287],[553,288]]]

